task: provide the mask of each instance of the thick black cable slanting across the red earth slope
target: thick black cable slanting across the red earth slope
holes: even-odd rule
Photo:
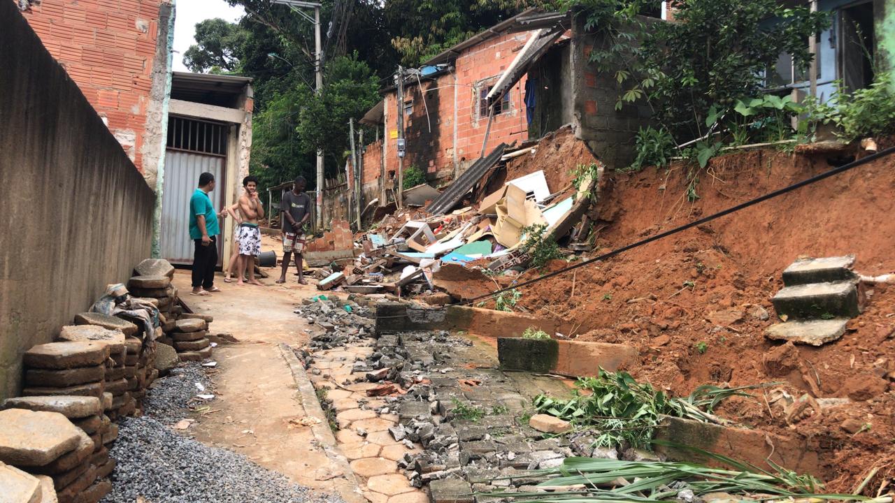
[[[558,275],[560,275],[560,274],[567,273],[568,271],[573,270],[573,269],[583,268],[584,266],[586,266],[586,265],[588,265],[588,264],[592,264],[593,262],[597,262],[597,261],[600,261],[600,260],[610,259],[610,258],[615,257],[616,255],[618,255],[618,254],[620,254],[620,253],[622,253],[622,252],[627,252],[628,250],[637,248],[638,246],[643,246],[644,244],[652,243],[653,241],[658,241],[658,240],[662,239],[663,237],[668,237],[668,236],[671,235],[671,234],[677,234],[677,233],[679,233],[679,232],[681,232],[681,231],[686,231],[686,229],[689,229],[689,228],[692,228],[692,227],[695,227],[695,226],[701,226],[701,225],[703,225],[703,224],[706,223],[706,222],[711,222],[712,220],[714,220],[714,219],[716,219],[716,218],[724,217],[724,216],[726,216],[726,215],[729,215],[730,213],[734,213],[735,211],[739,211],[740,209],[746,209],[746,208],[748,208],[748,207],[750,207],[750,206],[753,206],[753,205],[758,204],[758,203],[760,203],[760,202],[763,202],[763,201],[765,201],[765,200],[773,199],[773,198],[775,198],[775,197],[777,197],[777,196],[780,196],[780,195],[783,195],[783,194],[785,194],[785,193],[787,193],[787,192],[792,192],[792,191],[795,191],[795,190],[797,190],[797,189],[800,189],[800,188],[804,187],[805,185],[810,185],[810,184],[815,183],[815,182],[820,182],[821,180],[823,180],[823,179],[825,179],[825,178],[829,178],[829,177],[831,177],[831,176],[833,176],[833,175],[839,175],[840,173],[846,172],[846,171],[848,171],[849,169],[852,169],[852,168],[857,167],[857,166],[864,165],[864,164],[866,164],[866,163],[868,163],[868,162],[871,162],[871,161],[874,161],[874,160],[876,160],[876,159],[878,159],[878,158],[884,158],[884,157],[888,156],[889,154],[891,154],[891,153],[893,153],[893,152],[895,152],[895,147],[890,147],[890,148],[888,148],[888,149],[880,150],[879,152],[876,152],[875,154],[869,155],[869,156],[867,156],[867,157],[865,157],[865,158],[860,158],[860,159],[858,159],[857,161],[853,161],[853,162],[848,163],[847,165],[843,165],[843,166],[839,166],[839,167],[834,167],[834,168],[832,168],[832,169],[829,170],[829,171],[824,171],[824,172],[821,173],[820,175],[814,175],[814,176],[812,176],[811,178],[806,178],[805,180],[802,180],[801,182],[793,183],[792,185],[789,185],[788,187],[784,187],[784,188],[779,189],[779,190],[774,191],[774,192],[768,192],[768,193],[764,194],[763,196],[759,196],[759,197],[755,198],[754,200],[747,200],[747,201],[744,202],[744,203],[737,204],[737,206],[733,206],[733,207],[730,207],[730,208],[728,208],[728,209],[723,209],[723,210],[719,211],[718,213],[714,213],[714,214],[712,214],[712,215],[709,215],[708,217],[700,218],[700,219],[698,219],[698,220],[695,220],[695,221],[693,221],[693,222],[690,222],[689,224],[685,224],[685,225],[683,225],[683,226],[678,226],[678,227],[675,227],[675,228],[670,229],[670,230],[668,230],[668,231],[665,231],[665,232],[663,232],[663,233],[655,234],[655,235],[652,235],[652,236],[647,237],[647,238],[645,238],[645,239],[642,239],[642,240],[640,240],[640,241],[638,241],[638,242],[636,242],[636,243],[631,243],[631,244],[628,244],[628,245],[626,245],[626,246],[622,246],[621,248],[617,248],[617,249],[615,249],[615,250],[613,250],[613,251],[611,251],[611,252],[603,253],[602,255],[600,255],[600,256],[598,256],[598,257],[594,257],[594,258],[592,258],[592,259],[590,259],[590,260],[584,260],[584,262],[575,264],[574,266],[569,266],[569,267],[567,267],[566,269],[560,269],[560,270],[558,270],[558,271],[553,271],[553,272],[550,272],[550,273],[548,273],[548,274],[545,274],[545,275],[543,275],[543,276],[541,276],[541,277],[535,277],[534,279],[530,279],[530,280],[528,280],[528,281],[524,281],[524,282],[522,282],[522,283],[519,283],[518,285],[507,286],[507,288],[502,288],[502,289],[497,290],[497,291],[495,291],[495,292],[491,292],[490,294],[479,295],[478,297],[475,297],[475,298],[473,298],[473,299],[471,299],[471,300],[469,300],[469,301],[467,301],[466,303],[461,304],[461,305],[472,305],[472,304],[475,303],[476,301],[480,301],[480,300],[482,300],[482,299],[490,299],[490,298],[493,298],[495,295],[502,294],[502,293],[504,293],[504,292],[508,292],[508,291],[510,291],[510,290],[514,290],[514,289],[516,289],[516,288],[521,288],[521,287],[523,287],[523,286],[529,286],[529,285],[532,285],[532,284],[537,283],[537,282],[539,282],[539,281],[542,281],[542,280],[544,280],[544,279],[547,279],[547,278],[549,278],[549,277],[554,277],[554,276],[558,276]]]

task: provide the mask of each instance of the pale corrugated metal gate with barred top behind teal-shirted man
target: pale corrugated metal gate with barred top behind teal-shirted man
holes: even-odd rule
[[[165,153],[165,186],[162,195],[161,252],[172,264],[192,264],[190,198],[199,175],[215,175],[217,186],[209,193],[218,211],[226,192],[226,124],[170,117]],[[224,231],[221,224],[221,232]],[[217,237],[217,265],[223,263],[223,243]]]

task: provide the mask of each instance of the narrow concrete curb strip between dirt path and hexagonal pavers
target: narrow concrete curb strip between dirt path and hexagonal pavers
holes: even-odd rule
[[[336,483],[339,495],[342,496],[342,499],[345,499],[346,503],[369,503],[361,494],[360,484],[354,476],[351,465],[348,465],[348,459],[337,447],[336,436],[329,429],[327,415],[323,413],[323,409],[320,407],[316,390],[314,385],[311,384],[311,379],[308,379],[308,374],[304,371],[304,365],[295,356],[289,345],[280,344],[279,350],[280,354],[283,355],[283,359],[286,360],[289,370],[292,371],[292,377],[295,381],[298,396],[302,400],[304,412],[320,420],[320,423],[311,426],[314,439],[320,442],[329,460],[342,471],[340,478],[344,482]]]

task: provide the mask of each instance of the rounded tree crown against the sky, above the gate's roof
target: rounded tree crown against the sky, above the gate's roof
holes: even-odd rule
[[[239,68],[248,33],[240,25],[220,18],[196,23],[196,44],[183,53],[183,64],[192,72]]]

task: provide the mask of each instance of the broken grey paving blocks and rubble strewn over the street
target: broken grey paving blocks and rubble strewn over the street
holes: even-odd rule
[[[556,425],[529,419],[533,395],[568,393],[560,380],[505,373],[471,339],[444,330],[372,333],[373,320],[365,318],[369,310],[358,306],[348,313],[340,308],[344,305],[354,303],[318,297],[296,310],[326,329],[311,338],[306,354],[311,374],[326,372],[314,366],[318,351],[373,345],[370,356],[353,362],[351,377],[340,384],[375,384],[365,393],[376,405],[360,408],[380,417],[397,414],[398,423],[388,429],[391,437],[408,448],[422,447],[397,465],[411,486],[429,488],[431,501],[471,501],[469,495],[478,490],[534,490],[526,487],[531,482],[526,472],[561,465],[567,456],[624,457],[614,448],[596,447],[592,435],[558,437]],[[624,454],[644,456],[633,450]]]

